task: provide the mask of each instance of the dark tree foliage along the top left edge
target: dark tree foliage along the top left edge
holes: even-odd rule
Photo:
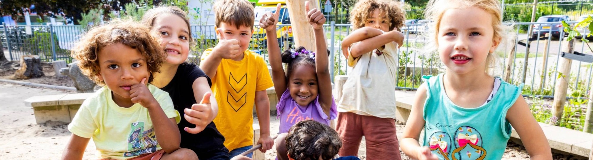
[[[91,9],[100,9],[104,18],[108,18],[111,11],[125,9],[130,2],[138,3],[139,0],[2,0],[0,1],[1,15],[24,15],[25,12],[36,12],[41,17],[56,17],[61,15],[67,18],[67,23],[82,19],[82,14]]]

